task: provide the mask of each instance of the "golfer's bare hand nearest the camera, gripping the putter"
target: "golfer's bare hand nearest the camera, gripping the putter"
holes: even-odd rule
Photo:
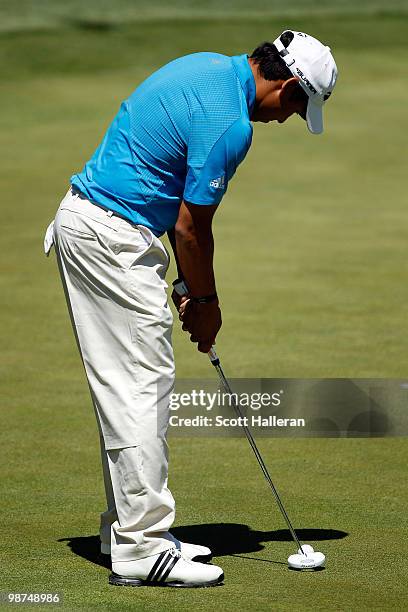
[[[198,342],[198,350],[208,353],[222,325],[218,300],[198,304],[186,299],[180,306],[179,319],[183,330],[191,334],[191,342]]]

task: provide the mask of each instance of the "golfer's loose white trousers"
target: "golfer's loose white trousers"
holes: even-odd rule
[[[101,437],[113,561],[173,546],[166,432],[174,384],[168,253],[150,230],[71,190],[53,238]]]

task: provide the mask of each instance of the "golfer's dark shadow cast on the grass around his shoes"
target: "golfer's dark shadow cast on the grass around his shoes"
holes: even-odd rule
[[[182,542],[209,546],[215,557],[239,556],[242,553],[257,552],[265,548],[263,545],[265,542],[292,542],[292,536],[287,529],[255,531],[248,525],[237,523],[183,525],[174,527],[171,531]],[[296,533],[301,542],[311,544],[324,540],[340,540],[348,536],[346,531],[337,529],[296,529]],[[106,568],[111,566],[110,557],[100,554],[99,536],[61,538],[58,542],[67,542],[67,546],[74,554],[92,563]],[[267,561],[266,559],[256,560]]]

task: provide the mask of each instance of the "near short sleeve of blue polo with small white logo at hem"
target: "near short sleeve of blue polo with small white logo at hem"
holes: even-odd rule
[[[184,200],[192,204],[219,204],[251,142],[251,123],[239,118],[220,136],[203,163],[187,158]]]

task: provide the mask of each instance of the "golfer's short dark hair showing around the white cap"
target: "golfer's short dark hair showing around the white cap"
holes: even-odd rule
[[[293,32],[287,31],[281,35],[280,40],[287,47],[292,42],[293,37]],[[293,74],[279,55],[277,48],[270,42],[263,42],[254,49],[249,57],[254,60],[261,76],[267,81],[287,81],[293,77]],[[296,98],[304,101],[305,104],[307,103],[308,95],[301,85],[298,85],[295,95]]]

